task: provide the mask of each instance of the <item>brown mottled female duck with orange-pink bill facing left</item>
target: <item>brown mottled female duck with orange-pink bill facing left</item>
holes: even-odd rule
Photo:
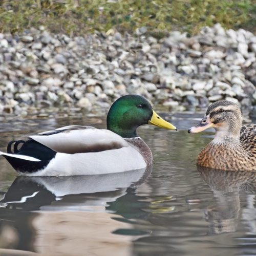
[[[216,134],[199,154],[197,164],[221,170],[256,170],[256,125],[242,126],[239,106],[221,100],[212,103],[202,121],[188,130],[199,133],[214,127]]]

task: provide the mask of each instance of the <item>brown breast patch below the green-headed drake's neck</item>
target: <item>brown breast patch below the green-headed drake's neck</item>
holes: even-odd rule
[[[125,140],[131,143],[143,156],[146,166],[150,166],[153,163],[153,156],[150,147],[140,137],[136,138],[125,138]]]

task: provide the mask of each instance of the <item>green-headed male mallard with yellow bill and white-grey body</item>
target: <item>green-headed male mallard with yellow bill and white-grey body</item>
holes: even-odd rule
[[[118,173],[152,164],[150,148],[136,133],[140,125],[150,123],[177,130],[139,95],[117,99],[106,122],[107,130],[71,125],[28,136],[27,141],[11,141],[7,153],[0,152],[0,155],[19,174],[27,176]]]

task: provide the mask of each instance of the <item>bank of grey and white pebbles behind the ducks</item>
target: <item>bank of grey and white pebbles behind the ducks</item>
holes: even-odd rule
[[[219,24],[193,37],[173,31],[156,39],[110,30],[83,37],[44,27],[0,34],[0,111],[76,108],[105,113],[136,93],[169,111],[206,108],[227,99],[255,111],[256,36]],[[254,105],[254,107],[253,107]]]

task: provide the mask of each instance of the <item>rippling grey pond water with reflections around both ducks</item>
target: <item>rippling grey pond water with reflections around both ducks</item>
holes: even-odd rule
[[[197,169],[213,134],[187,129],[202,116],[174,115],[178,132],[140,127],[154,156],[146,170],[16,177],[1,157],[1,255],[255,255],[256,175]],[[103,128],[105,120],[3,118],[1,150],[20,135],[70,124]]]

